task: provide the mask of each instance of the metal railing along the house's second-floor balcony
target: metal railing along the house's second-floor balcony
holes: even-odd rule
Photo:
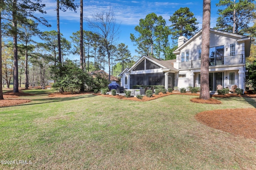
[[[216,57],[209,59],[209,66],[230,65],[230,64],[244,64],[243,55],[231,55],[224,57]],[[201,66],[201,60],[192,60],[179,63],[179,68],[197,68]]]

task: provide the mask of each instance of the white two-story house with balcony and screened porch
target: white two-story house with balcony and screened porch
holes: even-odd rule
[[[202,30],[190,39],[178,39],[178,48],[173,52],[176,60],[163,61],[142,56],[131,68],[120,73],[121,86],[164,85],[200,87]],[[231,88],[245,88],[245,58],[250,55],[250,37],[210,29],[209,82],[210,91],[218,84]]]

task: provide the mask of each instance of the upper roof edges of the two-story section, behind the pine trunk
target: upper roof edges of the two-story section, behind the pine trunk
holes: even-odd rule
[[[251,43],[251,38],[245,35],[238,35],[235,33],[228,33],[225,31],[220,31],[217,29],[210,29],[210,33],[215,33],[215,34],[219,34],[222,36],[226,36],[226,37],[231,37],[234,39],[237,39],[237,41],[245,42],[245,57],[248,57],[250,55],[250,43]],[[186,41],[185,43],[183,43],[182,45],[180,45],[180,47],[178,47],[175,51],[173,51],[174,54],[180,54],[180,51],[186,47],[189,43],[191,43],[192,41],[194,41],[194,39],[196,39],[198,36],[202,35],[202,29],[200,31],[198,31],[195,35],[193,35],[190,39],[188,39],[188,41]]]

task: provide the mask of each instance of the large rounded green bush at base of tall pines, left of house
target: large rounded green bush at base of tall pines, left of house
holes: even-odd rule
[[[52,79],[55,80],[52,87],[65,92],[79,92],[86,79],[86,73],[79,68],[78,64],[71,60],[51,66],[50,72]]]

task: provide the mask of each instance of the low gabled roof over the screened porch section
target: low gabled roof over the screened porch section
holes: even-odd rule
[[[131,72],[132,69],[134,69],[138,64],[142,62],[142,60],[147,59],[148,61],[151,61],[152,63],[160,66],[162,70],[174,70],[178,71],[176,68],[173,67],[173,63],[176,62],[175,60],[161,60],[161,59],[156,59],[154,57],[148,57],[146,55],[143,55],[133,66],[131,66],[126,72]],[[122,73],[121,73],[122,74]]]

